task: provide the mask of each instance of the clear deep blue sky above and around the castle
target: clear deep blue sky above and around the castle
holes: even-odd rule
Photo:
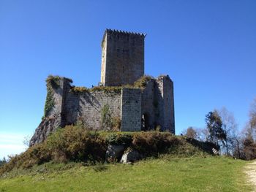
[[[227,107],[240,128],[256,96],[256,1],[0,0],[0,158],[24,149],[48,74],[100,80],[105,28],[146,33],[146,74],[174,82],[176,133]]]

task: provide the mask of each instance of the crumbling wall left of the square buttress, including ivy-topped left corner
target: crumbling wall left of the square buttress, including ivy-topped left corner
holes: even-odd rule
[[[108,118],[120,118],[121,91],[84,91],[73,92],[70,80],[59,78],[54,85],[48,84],[54,104],[37,127],[30,145],[42,142],[48,135],[78,121],[92,130],[110,129],[102,125],[102,108],[108,105]]]

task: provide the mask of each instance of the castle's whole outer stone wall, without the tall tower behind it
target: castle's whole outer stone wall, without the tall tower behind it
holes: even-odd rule
[[[113,118],[121,120],[121,131],[147,131],[160,126],[162,131],[175,134],[173,82],[168,76],[151,79],[142,89],[121,91],[105,87],[98,91],[74,91],[70,82],[61,77],[53,85],[48,83],[48,97],[54,104],[37,127],[30,145],[44,141],[58,127],[79,121],[93,130],[110,130]]]

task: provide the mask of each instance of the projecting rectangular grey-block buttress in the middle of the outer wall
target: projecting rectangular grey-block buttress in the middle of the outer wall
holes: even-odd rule
[[[141,130],[141,90],[123,88],[121,91],[121,131]]]

